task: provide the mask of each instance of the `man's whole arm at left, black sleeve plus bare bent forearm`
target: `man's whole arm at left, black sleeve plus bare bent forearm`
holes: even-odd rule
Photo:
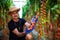
[[[19,32],[17,29],[17,26],[13,24],[13,22],[9,22],[8,23],[8,29],[9,31],[13,32],[15,35],[17,35],[18,37],[22,37],[25,35],[25,32]]]

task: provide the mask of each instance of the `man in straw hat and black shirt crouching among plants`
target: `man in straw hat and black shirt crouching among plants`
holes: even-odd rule
[[[25,36],[26,33],[24,30],[24,25],[30,27],[30,24],[26,22],[25,19],[18,17],[18,12],[20,8],[16,8],[15,6],[11,6],[8,14],[11,16],[11,21],[8,23],[8,29],[9,29],[9,40],[26,40]],[[31,35],[27,35],[27,39],[31,39]]]

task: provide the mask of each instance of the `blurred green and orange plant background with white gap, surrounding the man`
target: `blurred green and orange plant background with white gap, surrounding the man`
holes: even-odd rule
[[[60,39],[60,0],[0,0],[0,39],[8,40],[7,14],[10,6],[20,8],[19,17],[28,22],[39,11],[35,30],[39,33],[38,40]]]

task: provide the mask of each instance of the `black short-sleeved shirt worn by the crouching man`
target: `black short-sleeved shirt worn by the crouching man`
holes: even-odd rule
[[[25,40],[25,36],[23,37],[18,37],[17,35],[15,35],[12,31],[17,28],[19,32],[23,32],[23,26],[25,24],[25,20],[22,18],[19,18],[18,22],[14,22],[13,20],[11,20],[8,23],[8,28],[10,30],[10,34],[9,34],[9,40]]]

